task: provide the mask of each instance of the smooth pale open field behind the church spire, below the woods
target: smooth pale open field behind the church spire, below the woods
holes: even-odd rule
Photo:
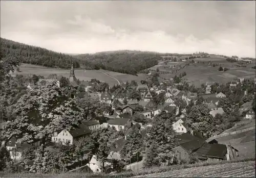
[[[36,74],[42,75],[44,77],[48,77],[49,74],[57,74],[63,75],[69,78],[70,69],[56,69],[56,68],[47,68],[43,66],[31,65],[31,64],[22,64],[20,67],[19,74]],[[109,75],[111,75],[111,77]],[[113,86],[118,84],[117,80],[121,82],[135,80],[136,82],[140,82],[141,80],[145,79],[145,74],[139,74],[139,76],[125,74],[125,73],[118,73],[112,72],[107,70],[82,70],[82,69],[75,69],[76,78],[83,81],[90,81],[91,79],[97,79],[101,82],[106,82],[109,85]],[[115,80],[116,78],[117,80]]]

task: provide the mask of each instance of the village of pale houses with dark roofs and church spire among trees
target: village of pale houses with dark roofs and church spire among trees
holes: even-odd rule
[[[56,74],[51,74],[47,79],[39,79],[36,85],[28,83],[24,87],[14,87],[12,89],[33,90],[38,87],[46,87],[47,84],[51,82],[55,82],[58,87],[61,86],[60,77]],[[104,128],[112,128],[114,132],[122,133],[121,136],[115,138],[113,142],[114,145],[111,146],[108,151],[108,155],[103,164],[104,167],[102,167],[102,162],[97,159],[96,155],[83,154],[82,162],[78,161],[77,164],[76,161],[74,161],[75,163],[71,161],[69,163],[69,166],[73,163],[76,165],[70,168],[69,171],[77,168],[95,173],[116,171],[113,167],[113,159],[120,162],[123,166],[125,165],[123,170],[130,169],[132,171],[138,171],[142,168],[146,154],[142,154],[142,151],[140,156],[137,155],[137,159],[131,161],[131,159],[127,160],[127,158],[122,157],[123,154],[121,154],[121,150],[129,142],[127,138],[129,138],[131,133],[135,132],[135,130],[140,133],[142,140],[147,137],[146,130],[154,127],[152,122],[162,113],[173,114],[175,117],[175,120],[172,122],[172,128],[169,128],[169,130],[173,130],[176,133],[178,140],[172,148],[172,159],[164,164],[174,164],[174,158],[177,159],[177,163],[182,164],[184,160],[190,158],[191,154],[196,154],[199,161],[206,162],[233,160],[239,157],[239,150],[236,147],[233,147],[229,143],[220,144],[216,139],[210,139],[211,136],[217,135],[218,131],[208,136],[202,131],[191,129],[191,123],[187,122],[187,110],[190,110],[191,106],[196,106],[199,102],[207,107],[208,114],[212,116],[212,118],[217,118],[217,116],[221,117],[225,114],[225,108],[220,106],[220,102],[225,100],[227,96],[223,92],[212,91],[212,86],[216,86],[214,83],[206,83],[203,88],[204,93],[200,94],[197,92],[179,90],[177,86],[183,85],[183,83],[175,84],[172,80],[162,81],[159,85],[152,85],[152,87],[144,82],[137,85],[121,83],[118,89],[113,92],[111,92],[111,87],[105,87],[103,91],[96,92],[93,91],[93,88],[95,88],[95,85],[97,86],[99,84],[97,82],[78,81],[75,77],[73,65],[70,70],[68,82],[69,89],[66,91],[68,97],[76,100],[93,98],[99,100],[100,103],[106,104],[111,109],[109,112],[104,111],[102,114],[88,121],[82,121],[79,128],[69,131],[63,129],[52,133],[52,143],[72,145],[83,137],[92,134],[92,132],[97,132]],[[235,90],[238,85],[243,86],[244,82],[245,79],[243,78],[230,81],[228,92]],[[254,91],[252,91],[252,93],[254,95],[255,79],[253,84]],[[127,88],[130,89],[128,90]],[[243,92],[244,96],[248,95],[248,90]],[[255,113],[251,107],[251,99],[252,98],[238,108],[239,115],[244,120],[255,119]],[[231,111],[232,109],[234,110],[233,107]],[[104,117],[105,120],[97,120],[99,116]],[[2,130],[5,130],[7,122],[2,120]],[[17,144],[16,141],[16,136],[12,136],[2,143],[2,145],[6,146],[11,159],[15,163],[23,161],[24,151],[36,149],[41,145],[40,140],[33,143],[22,144]],[[136,152],[132,154],[136,155]],[[34,160],[29,160],[26,164],[31,166],[33,162]]]

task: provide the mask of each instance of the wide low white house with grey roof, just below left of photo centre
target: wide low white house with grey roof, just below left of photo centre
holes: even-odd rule
[[[127,130],[127,129],[131,128],[131,126],[132,126],[132,122],[131,122],[130,118],[118,118],[118,117],[116,117],[115,119],[108,120],[108,124],[111,127],[114,126],[114,128],[117,131]]]

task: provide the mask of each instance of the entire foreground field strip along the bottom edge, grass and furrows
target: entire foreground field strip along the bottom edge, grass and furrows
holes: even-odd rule
[[[35,173],[4,173],[0,177],[212,177],[212,176],[234,176],[245,171],[246,177],[255,177],[254,158],[244,160],[200,162],[196,164],[171,165],[145,168],[138,172],[126,171],[114,174],[92,174],[86,172],[72,172],[60,174],[35,174]],[[236,168],[236,169],[234,169]],[[242,169],[241,169],[242,168]],[[254,171],[253,171],[254,170]],[[214,172],[215,171],[215,172]],[[218,175],[217,173],[218,172]],[[214,174],[213,174],[214,173]]]

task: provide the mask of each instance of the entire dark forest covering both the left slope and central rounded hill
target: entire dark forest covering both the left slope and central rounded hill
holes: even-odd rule
[[[162,60],[157,53],[130,50],[72,56],[4,38],[1,38],[1,53],[10,58],[17,57],[27,64],[70,68],[73,61],[74,68],[104,69],[133,75],[157,65],[158,60]]]

